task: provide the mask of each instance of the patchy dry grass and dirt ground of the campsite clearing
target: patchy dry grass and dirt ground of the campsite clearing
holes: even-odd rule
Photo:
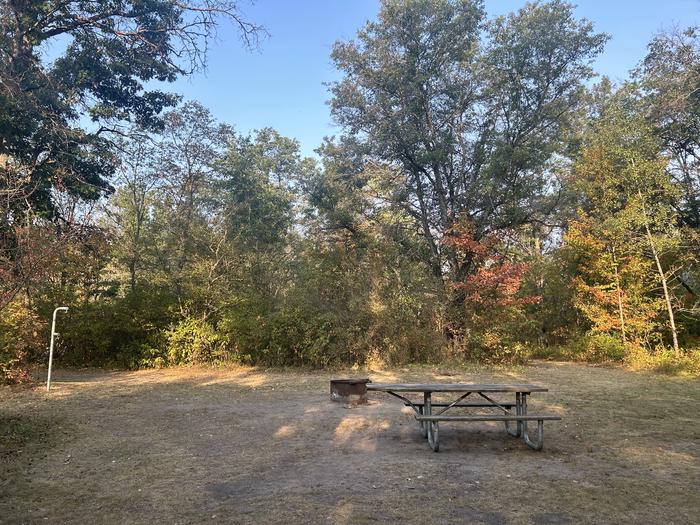
[[[2,387],[0,522],[697,522],[697,379],[572,363],[367,374],[539,382],[531,411],[564,417],[542,452],[473,423],[442,425],[436,454],[389,396],[330,402],[344,375],[62,371],[50,395]]]

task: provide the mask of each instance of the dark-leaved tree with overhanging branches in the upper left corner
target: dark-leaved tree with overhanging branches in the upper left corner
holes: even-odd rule
[[[124,120],[159,125],[159,113],[177,97],[144,83],[203,67],[220,16],[248,43],[261,31],[228,0],[3,2],[0,158],[3,170],[23,174],[29,193],[15,204],[51,216],[54,187],[87,199],[108,191],[108,132]],[[47,46],[66,38],[63,52],[47,61]],[[81,119],[95,125],[85,130]]]

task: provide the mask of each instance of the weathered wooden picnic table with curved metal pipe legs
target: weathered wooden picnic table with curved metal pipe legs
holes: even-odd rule
[[[535,450],[542,450],[544,443],[544,421],[559,420],[561,417],[545,414],[528,414],[527,397],[533,392],[547,392],[547,388],[539,385],[513,384],[513,385],[479,385],[463,383],[368,383],[367,390],[373,392],[386,392],[399,398],[405,406],[415,411],[416,420],[420,425],[423,436],[428,439],[428,444],[435,452],[440,448],[439,422],[454,421],[502,421],[506,432],[514,437],[522,437],[523,441]],[[408,394],[423,394],[422,402],[412,400]],[[433,394],[458,395],[451,402],[434,402]],[[515,394],[514,401],[495,400],[494,394]],[[469,396],[479,397],[473,402],[466,402]],[[488,413],[470,413],[458,415],[446,415],[453,409],[481,409]],[[434,410],[437,409],[437,410]],[[537,421],[537,436],[532,439],[528,433],[528,421]],[[515,428],[511,427],[515,423]]]

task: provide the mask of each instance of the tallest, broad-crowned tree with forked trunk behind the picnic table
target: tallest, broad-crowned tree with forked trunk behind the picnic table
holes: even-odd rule
[[[419,225],[433,272],[456,282],[475,270],[442,242],[457,221],[478,241],[551,207],[550,168],[607,39],[559,1],[484,16],[480,1],[385,0],[332,54],[345,73],[331,99],[342,145],[398,172],[396,204]]]

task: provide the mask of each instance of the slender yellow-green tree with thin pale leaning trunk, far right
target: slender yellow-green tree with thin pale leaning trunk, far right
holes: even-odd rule
[[[672,206],[677,188],[666,171],[667,164],[661,145],[638,111],[634,97],[623,89],[610,99],[592,125],[575,165],[575,177],[585,211],[582,219],[594,225],[589,224],[583,231],[603,243],[597,248],[591,245],[590,251],[604,258],[602,275],[607,274],[607,280],[614,286],[623,338],[620,263],[625,258],[645,256],[651,260],[649,270],[656,274],[661,285],[668,328],[678,353],[671,285],[679,267],[668,261],[675,259],[670,254],[679,252],[681,236]],[[599,298],[602,298],[600,294]]]

